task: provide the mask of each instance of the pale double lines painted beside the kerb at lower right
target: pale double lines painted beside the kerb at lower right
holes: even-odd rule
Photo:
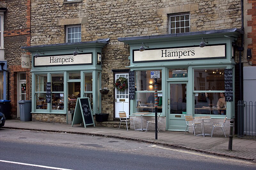
[[[245,163],[245,164],[256,165],[255,163],[252,163],[252,162],[245,162],[245,161],[241,161],[241,160],[234,160],[234,159],[228,159],[228,158],[219,158],[219,157],[216,157],[216,156],[204,155],[204,154],[201,154],[201,153],[194,153],[194,152],[188,152],[188,151],[180,151],[180,150],[177,150],[177,149],[171,149],[171,148],[165,148],[165,147],[162,147],[162,146],[157,146],[155,144],[151,145],[151,146],[148,146],[148,147],[154,147],[154,148],[165,149],[165,150],[176,151],[176,152],[189,153],[189,154],[193,154],[193,155],[204,156],[204,157],[209,157],[209,158],[214,158],[214,159],[222,159],[222,160],[228,160],[228,161],[232,161],[232,162],[240,162],[240,163]]]

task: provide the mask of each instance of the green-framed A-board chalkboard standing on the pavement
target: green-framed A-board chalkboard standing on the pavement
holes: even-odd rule
[[[84,124],[84,128],[86,128],[86,125],[95,126],[91,104],[88,97],[77,98],[76,100],[76,108],[72,121],[72,127],[77,123],[81,123],[81,125]]]

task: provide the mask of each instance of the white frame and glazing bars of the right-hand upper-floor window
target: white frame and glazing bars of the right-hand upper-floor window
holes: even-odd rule
[[[178,20],[178,21],[184,21],[184,26],[176,26],[176,17],[181,17],[181,16],[184,16],[184,20]],[[188,19],[186,19],[185,16],[188,16]],[[175,21],[171,21],[171,18],[174,17],[175,18]],[[188,26],[186,26],[186,21],[189,22]],[[171,27],[172,26],[172,23],[174,23],[174,29]],[[180,22],[179,22],[180,24]],[[169,33],[171,34],[172,33],[172,29],[174,30],[174,33],[177,33],[176,32],[176,29],[179,29],[179,32],[178,33],[187,33],[186,32],[186,28],[188,28],[188,32],[190,32],[190,15],[189,15],[189,12],[184,12],[184,13],[177,13],[177,14],[169,14]],[[182,30],[184,29],[184,31]]]

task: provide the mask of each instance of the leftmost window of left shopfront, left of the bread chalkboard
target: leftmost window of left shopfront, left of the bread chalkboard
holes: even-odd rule
[[[36,109],[47,109],[46,82],[47,74],[35,75]]]

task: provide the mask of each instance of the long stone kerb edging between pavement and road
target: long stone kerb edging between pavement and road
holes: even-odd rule
[[[3,129],[32,130],[32,131],[41,131],[41,132],[56,132],[56,133],[81,134],[81,135],[94,135],[94,136],[101,136],[101,137],[113,137],[113,138],[118,138],[118,139],[125,139],[125,140],[132,140],[132,141],[145,142],[145,143],[151,143],[151,144],[158,144],[158,145],[169,146],[169,147],[174,147],[174,148],[182,148],[182,149],[187,149],[187,150],[191,150],[191,151],[207,153],[207,154],[211,154],[211,155],[225,156],[225,157],[236,158],[236,159],[244,159],[244,160],[249,160],[249,161],[256,161],[256,159],[252,159],[252,158],[239,157],[239,156],[235,156],[235,155],[229,155],[229,154],[224,154],[224,153],[206,151],[206,150],[202,150],[202,149],[190,148],[190,147],[183,146],[183,145],[167,144],[167,143],[163,143],[163,142],[156,142],[156,141],[150,141],[150,140],[138,139],[138,138],[131,138],[131,137],[119,137],[119,136],[115,136],[115,135],[104,135],[104,134],[86,133],[86,132],[71,132],[71,131],[61,131],[61,130],[43,130],[43,129],[14,128],[14,127],[1,127],[1,128],[3,128]]]

